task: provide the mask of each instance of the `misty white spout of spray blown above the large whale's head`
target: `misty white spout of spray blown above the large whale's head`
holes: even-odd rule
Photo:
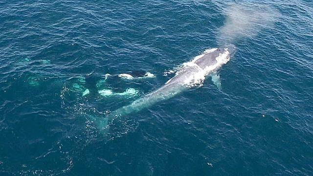
[[[228,5],[224,8],[224,15],[225,23],[217,38],[222,46],[256,36],[261,30],[271,27],[280,16],[275,8],[248,2]]]

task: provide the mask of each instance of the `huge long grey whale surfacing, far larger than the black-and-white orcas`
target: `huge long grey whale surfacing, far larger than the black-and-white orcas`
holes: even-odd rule
[[[175,76],[168,80],[162,87],[144,95],[131,104],[112,111],[107,117],[93,118],[100,131],[106,131],[110,122],[116,118],[132,114],[153,106],[157,102],[165,101],[179,93],[195,86],[201,86],[205,77],[210,75],[213,83],[221,87],[220,76],[217,71],[229,61],[227,48],[211,48],[204,50],[190,62],[183,63],[175,72]]]

